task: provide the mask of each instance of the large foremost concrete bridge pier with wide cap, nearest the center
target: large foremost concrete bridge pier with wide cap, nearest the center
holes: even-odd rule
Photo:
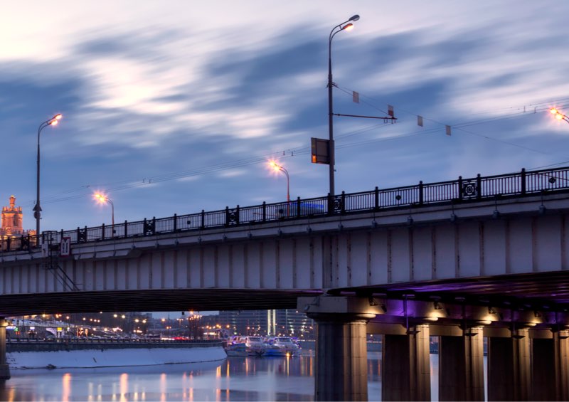
[[[366,324],[378,306],[368,298],[299,297],[298,309],[316,322],[314,401],[367,401]]]

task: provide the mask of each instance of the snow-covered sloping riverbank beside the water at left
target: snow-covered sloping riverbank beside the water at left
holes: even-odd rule
[[[220,343],[209,344],[52,344],[6,353],[10,369],[94,369],[218,361],[227,357]]]

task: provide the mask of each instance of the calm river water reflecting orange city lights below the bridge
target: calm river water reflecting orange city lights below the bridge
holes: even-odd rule
[[[294,357],[228,357],[196,364],[12,370],[0,401],[312,401],[314,351]],[[432,401],[438,355],[431,354]],[[368,398],[381,401],[381,353],[368,352]]]

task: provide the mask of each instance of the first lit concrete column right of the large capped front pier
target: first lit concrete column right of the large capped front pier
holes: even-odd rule
[[[430,331],[410,327],[408,335],[383,336],[382,401],[430,401]]]

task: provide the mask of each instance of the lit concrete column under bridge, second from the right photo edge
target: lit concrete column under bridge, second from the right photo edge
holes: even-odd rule
[[[511,338],[488,339],[488,400],[530,401],[531,361],[527,329]]]

